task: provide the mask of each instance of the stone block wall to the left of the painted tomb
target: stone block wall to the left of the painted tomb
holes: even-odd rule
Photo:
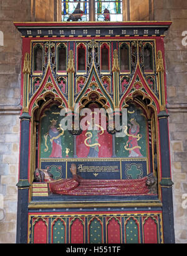
[[[32,21],[36,14],[37,20],[54,21],[49,0],[36,1],[46,6],[45,12],[38,6],[37,13],[34,1],[0,0],[0,243],[16,243],[22,41],[13,22]],[[3,220],[1,208],[6,212]]]

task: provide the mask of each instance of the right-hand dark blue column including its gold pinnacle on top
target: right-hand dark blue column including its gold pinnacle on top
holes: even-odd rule
[[[160,113],[158,121],[160,127],[160,153],[161,153],[161,201],[163,204],[163,236],[164,243],[175,243],[173,220],[173,195],[170,166],[170,142],[168,130],[168,113],[165,102],[165,68],[162,53],[157,53],[156,72],[160,96]]]

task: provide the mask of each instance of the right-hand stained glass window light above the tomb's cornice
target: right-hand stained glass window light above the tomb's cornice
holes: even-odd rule
[[[123,21],[122,0],[95,1],[95,21]]]

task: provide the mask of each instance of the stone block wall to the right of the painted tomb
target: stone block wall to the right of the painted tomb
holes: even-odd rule
[[[155,0],[156,21],[173,21],[165,37],[167,100],[176,243],[187,243],[187,1]],[[187,42],[187,40],[186,40]],[[187,194],[186,194],[187,198]]]

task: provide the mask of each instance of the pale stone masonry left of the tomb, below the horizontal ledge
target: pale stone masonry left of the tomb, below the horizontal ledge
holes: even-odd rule
[[[0,194],[6,212],[0,222],[0,243],[16,242],[19,122],[19,115],[0,115]]]

